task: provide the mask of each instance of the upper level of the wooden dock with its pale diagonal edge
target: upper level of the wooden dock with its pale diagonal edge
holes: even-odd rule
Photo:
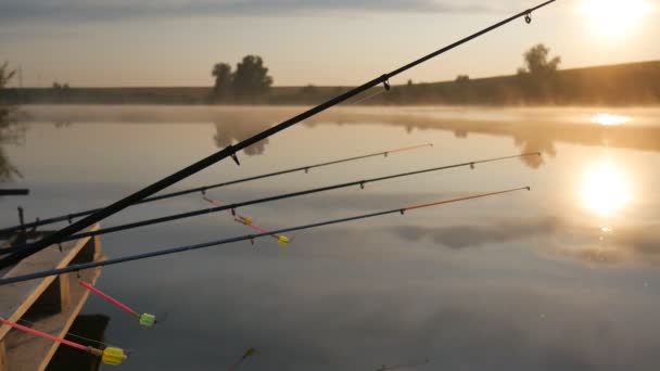
[[[90,230],[97,230],[100,226],[96,225]],[[77,240],[75,243],[62,244],[62,253],[56,246],[46,248],[30,257],[23,259],[17,266],[12,268],[4,277],[22,276],[34,271],[63,268],[78,254],[78,252],[90,242],[90,236]],[[0,286],[0,316],[9,321],[15,322],[30,308],[43,291],[56,279],[47,277],[39,280],[31,280],[12,283]],[[0,327],[0,341],[10,331],[10,327]]]

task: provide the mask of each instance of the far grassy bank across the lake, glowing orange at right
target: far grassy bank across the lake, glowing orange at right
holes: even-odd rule
[[[251,101],[213,98],[211,87],[14,88],[2,92],[13,104],[267,104],[310,105],[351,87],[274,87]],[[378,88],[380,89],[380,88]],[[367,92],[368,97],[373,92]],[[551,79],[498,76],[394,86],[364,105],[658,105],[660,61],[559,71]]]

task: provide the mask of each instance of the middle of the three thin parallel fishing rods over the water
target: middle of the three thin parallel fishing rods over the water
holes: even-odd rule
[[[384,181],[384,180],[405,178],[405,177],[410,177],[410,176],[420,175],[420,174],[442,171],[442,170],[448,170],[448,169],[453,169],[453,168],[467,167],[467,166],[469,166],[470,168],[474,168],[479,164],[493,163],[493,162],[511,159],[511,158],[520,158],[520,157],[525,157],[525,156],[540,156],[540,155],[541,155],[541,153],[538,153],[538,152],[524,153],[524,154],[513,155],[513,156],[480,159],[480,161],[473,161],[473,162],[469,162],[469,163],[446,165],[446,166],[433,167],[433,168],[416,170],[416,171],[399,172],[399,174],[394,174],[394,175],[384,176],[384,177],[351,181],[351,182],[346,182],[346,183],[326,186],[326,187],[315,188],[315,189],[305,190],[305,191],[291,192],[291,193],[279,194],[279,195],[263,197],[263,199],[256,199],[256,200],[251,200],[251,201],[238,202],[238,203],[233,203],[233,204],[226,204],[226,205],[221,205],[221,206],[203,208],[203,209],[199,209],[199,210],[194,210],[194,212],[168,215],[168,216],[153,218],[153,219],[145,219],[145,220],[129,222],[129,223],[119,225],[119,226],[115,226],[115,227],[102,228],[102,229],[98,229],[96,231],[81,232],[81,233],[71,235],[71,236],[64,239],[63,241],[74,241],[74,240],[92,236],[92,235],[115,233],[115,232],[125,231],[125,230],[129,230],[129,229],[158,225],[158,223],[163,223],[163,222],[191,218],[191,217],[195,217],[195,216],[200,216],[200,215],[226,212],[226,210],[229,210],[232,213],[232,215],[236,215],[236,209],[238,209],[239,207],[244,207],[244,206],[250,206],[250,205],[263,204],[263,203],[280,201],[280,200],[285,200],[285,199],[293,199],[293,197],[299,197],[299,196],[303,196],[303,195],[307,195],[307,194],[321,193],[321,192],[333,191],[333,190],[339,190],[342,188],[350,188],[350,187],[359,187],[360,189],[365,189],[365,187],[369,183],[380,182],[380,181]],[[262,232],[265,232],[265,231],[262,231]],[[279,233],[275,233],[275,232],[270,232],[270,234],[279,235]],[[21,248],[21,246],[0,248],[0,254],[11,253],[11,252],[14,252],[16,248]]]

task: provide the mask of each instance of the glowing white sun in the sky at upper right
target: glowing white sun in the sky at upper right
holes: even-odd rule
[[[646,0],[584,0],[580,13],[600,36],[621,37],[649,12]]]

